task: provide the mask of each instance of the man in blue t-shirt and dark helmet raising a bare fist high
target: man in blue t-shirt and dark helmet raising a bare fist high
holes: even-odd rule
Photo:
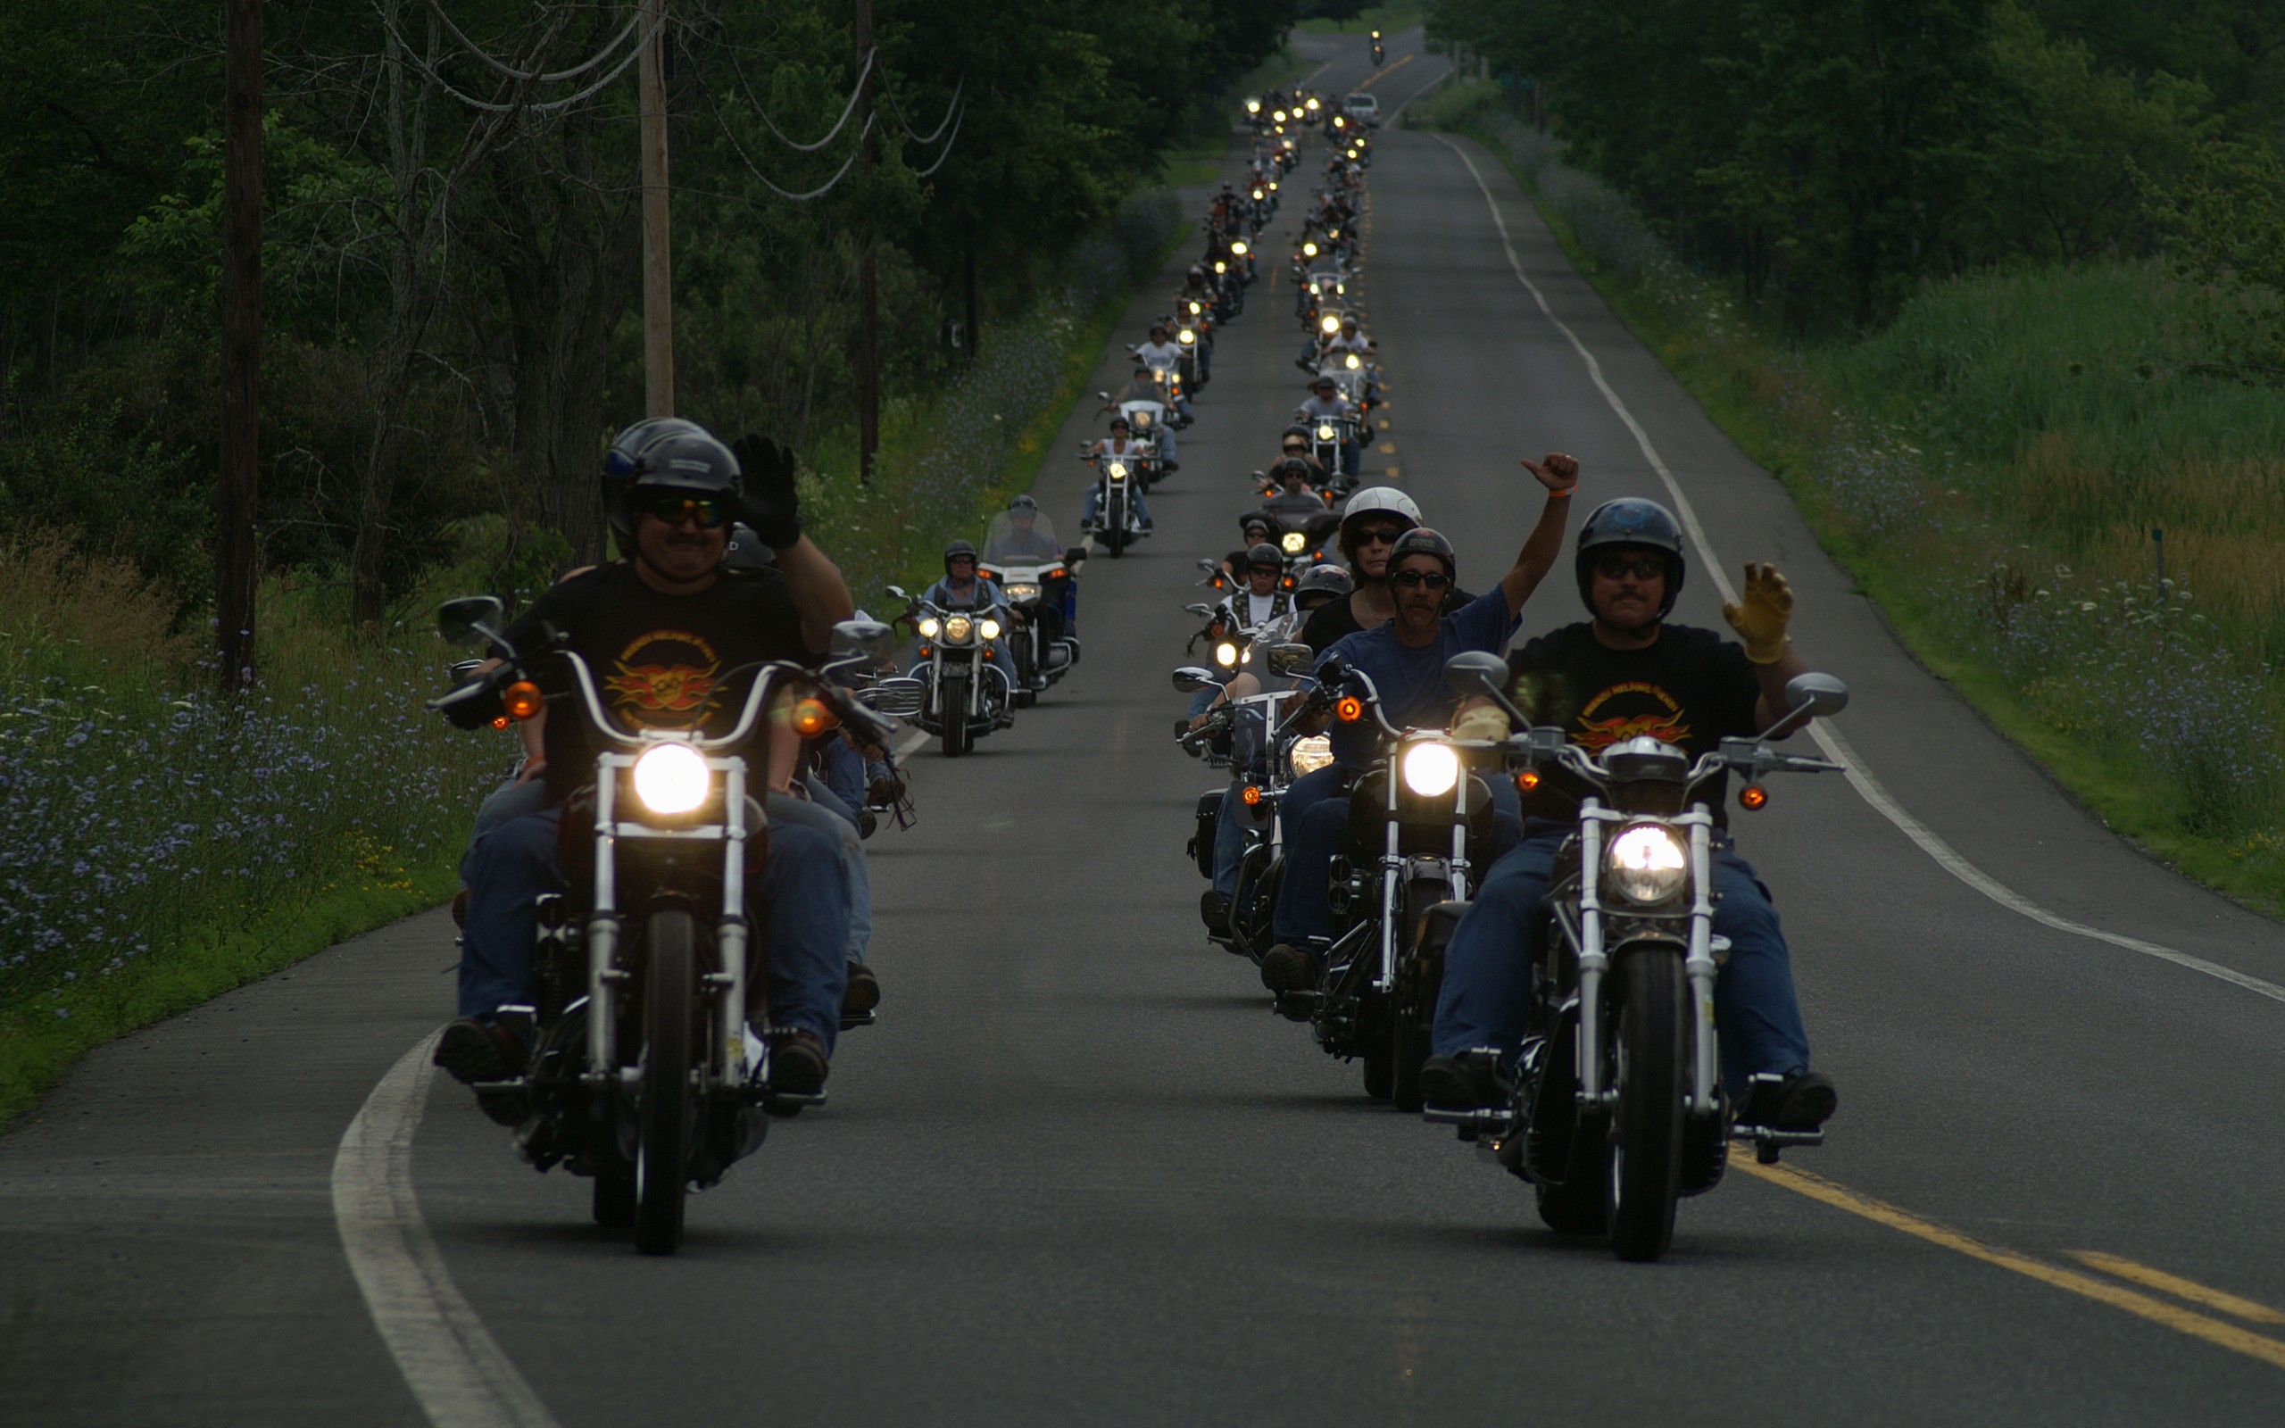
[[[1499,585],[1446,612],[1444,594],[1458,583],[1451,541],[1414,528],[1389,548],[1389,583],[1396,615],[1355,635],[1337,640],[1325,656],[1341,656],[1380,690],[1382,715],[1403,727],[1444,724],[1453,697],[1444,688],[1444,663],[1462,651],[1506,649],[1524,601],[1563,555],[1563,521],[1572,491],[1579,487],[1579,462],[1552,452],[1545,462],[1524,462],[1545,489],[1540,516],[1515,553],[1515,564]],[[1321,660],[1325,658],[1321,656]],[[1332,731],[1334,763],[1286,788],[1286,880],[1277,893],[1273,934],[1277,946],[1261,955],[1261,985],[1270,992],[1302,992],[1316,985],[1318,948],[1337,932],[1328,893],[1328,859],[1339,852],[1348,832],[1348,786],[1373,759],[1373,736],[1364,724],[1337,724]],[[1506,779],[1499,781],[1506,788]]]

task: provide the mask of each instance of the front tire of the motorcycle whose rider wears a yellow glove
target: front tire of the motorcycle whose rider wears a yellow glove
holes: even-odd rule
[[[1652,948],[1620,962],[1613,1037],[1611,1250],[1650,1261],[1675,1238],[1682,1193],[1682,1097],[1689,1076],[1689,982],[1682,953]]]

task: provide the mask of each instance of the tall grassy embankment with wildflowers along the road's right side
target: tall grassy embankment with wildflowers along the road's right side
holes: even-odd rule
[[[2285,393],[2198,370],[2184,292],[2139,263],[1931,283],[1876,334],[1782,340],[1492,103],[1417,114],[1508,162],[1906,644],[2114,829],[2285,907]]]

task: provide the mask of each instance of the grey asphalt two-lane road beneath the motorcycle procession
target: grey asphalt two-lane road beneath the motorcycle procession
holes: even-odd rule
[[[1321,87],[1366,75],[1362,39],[1305,43],[1332,57]],[[1398,37],[1382,105],[1440,64]],[[1602,500],[1663,496],[1657,452],[1732,571],[1791,576],[1798,647],[1855,690],[1837,729],[1929,839],[2205,969],[2004,907],[1839,777],[1782,781],[1739,834],[1842,1088],[1830,1145],[1787,1158],[1823,1179],[1734,1170],[1657,1266],[1542,1232],[1517,1181],[1366,1101],[1197,930],[1181,843],[1211,772],[1168,738],[1165,676],[1190,562],[1234,544],[1302,395],[1289,292],[1257,288],[1156,539],[1085,571],[1085,663],[973,759],[919,754],[919,827],[871,843],[882,1024],[843,1040],[823,1113],[692,1202],[679,1257],[594,1232],[585,1181],[530,1174],[432,1085],[400,1108],[398,1213],[432,1254],[398,1311],[464,1311],[409,1369],[423,1410],[334,1181],[352,1117],[450,1012],[450,928],[425,914],[105,1049],[0,1138],[0,1421],[2285,1417],[2285,1005],[2260,989],[2285,985],[2285,934],[2111,839],[1919,669],[1490,155],[1392,128],[1371,194],[1378,462],[1462,578],[1536,514],[1520,455],[1579,455]],[[1081,466],[1040,494],[1076,521]],[[1693,562],[1679,619],[1718,624],[1714,592]],[[1558,576],[1524,621],[1574,610]],[[484,1346],[507,1389],[439,1396],[443,1359]]]

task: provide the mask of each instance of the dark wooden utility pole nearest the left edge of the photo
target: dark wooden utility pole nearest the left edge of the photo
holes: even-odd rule
[[[254,676],[254,498],[263,420],[263,0],[226,0],[222,37],[222,466],[215,635],[222,690]]]

